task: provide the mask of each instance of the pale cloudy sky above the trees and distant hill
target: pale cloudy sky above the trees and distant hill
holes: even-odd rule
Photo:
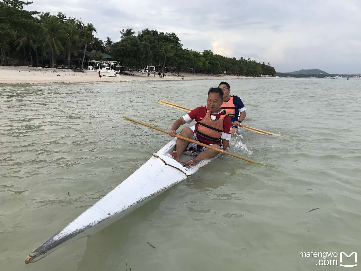
[[[270,62],[278,72],[361,73],[361,1],[33,0],[26,9],[92,22],[101,40],[118,30],[174,32],[183,48]]]

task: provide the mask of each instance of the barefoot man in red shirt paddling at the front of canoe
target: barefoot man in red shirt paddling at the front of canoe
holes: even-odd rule
[[[223,91],[220,88],[210,88],[208,90],[207,106],[197,107],[184,117],[176,120],[169,130],[170,136],[174,137],[177,134],[177,129],[181,125],[186,123],[190,124],[192,120],[196,120],[197,123],[194,132],[190,128],[184,127],[180,135],[207,145],[213,145],[218,149],[221,149],[223,145],[223,149],[227,149],[231,138],[230,128],[232,122],[230,117],[221,110],[222,103]],[[207,149],[206,147],[178,138],[175,151],[173,151],[171,155],[179,162],[184,149],[200,151],[194,159],[182,163],[186,165],[192,165],[193,162],[199,160],[213,158],[219,153],[218,151]]]

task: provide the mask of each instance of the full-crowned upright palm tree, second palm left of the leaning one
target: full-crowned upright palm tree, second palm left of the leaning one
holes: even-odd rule
[[[64,50],[60,39],[65,36],[63,25],[59,19],[52,15],[50,17],[43,17],[41,19],[41,25],[43,27],[44,35],[41,39],[44,51],[50,51],[52,55],[52,67],[54,68],[54,52],[59,54],[60,51]]]

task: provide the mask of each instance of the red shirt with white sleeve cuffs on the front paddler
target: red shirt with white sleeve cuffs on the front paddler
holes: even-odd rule
[[[196,122],[203,120],[203,118],[205,117],[205,114],[207,113],[207,109],[205,109],[205,106],[200,106],[197,107],[195,109],[193,109],[191,112],[189,112],[188,114],[183,116],[183,120],[187,122],[187,124],[190,124],[192,122],[192,120],[196,120]],[[219,119],[219,117],[223,114],[223,110],[219,111],[218,113],[214,114],[212,113],[213,116],[215,116],[217,118],[217,120]],[[230,134],[230,129],[232,127],[232,122],[229,116],[225,116],[225,118],[223,119],[223,132],[222,132],[222,139],[226,139],[226,140],[230,140],[231,139],[231,134]],[[196,124],[196,129],[198,128],[198,123]],[[215,142],[209,139],[206,139],[204,137],[198,136],[198,140],[204,144],[218,144],[220,145],[220,142]]]

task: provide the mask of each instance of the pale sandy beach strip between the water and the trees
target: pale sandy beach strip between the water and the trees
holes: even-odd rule
[[[35,68],[35,67],[6,67],[0,66],[0,84],[16,84],[16,83],[70,83],[70,82],[117,82],[117,81],[167,81],[167,80],[204,80],[204,79],[234,79],[234,78],[253,78],[246,76],[221,75],[214,76],[208,74],[190,74],[190,73],[165,73],[165,77],[160,78],[158,74],[154,77],[147,73],[132,72],[134,76],[126,76],[121,74],[120,77],[102,76],[98,78],[97,72],[74,72],[68,69],[53,68]],[[263,78],[263,77],[262,77]],[[268,77],[270,78],[270,77]]]

